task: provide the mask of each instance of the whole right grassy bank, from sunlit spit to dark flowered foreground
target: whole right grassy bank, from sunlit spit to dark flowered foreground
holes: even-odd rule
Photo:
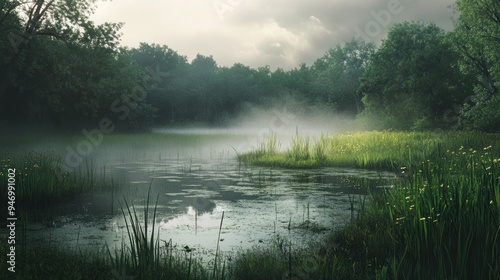
[[[401,180],[325,244],[323,279],[499,279],[500,138],[476,133],[364,132],[271,136],[240,156],[251,164],[397,171]],[[313,254],[318,258],[318,254]],[[283,272],[285,273],[285,272]],[[313,278],[311,278],[313,279]]]

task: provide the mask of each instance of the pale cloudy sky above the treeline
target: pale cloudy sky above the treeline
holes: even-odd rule
[[[221,66],[240,62],[290,69],[311,65],[353,37],[380,43],[405,20],[450,30],[454,0],[113,0],[93,19],[123,22],[122,45],[167,45],[191,61],[212,55]]]

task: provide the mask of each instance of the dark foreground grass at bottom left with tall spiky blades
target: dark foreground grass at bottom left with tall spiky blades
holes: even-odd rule
[[[7,270],[7,256],[0,255],[1,279],[224,279],[225,268],[210,272],[192,259],[187,250],[176,250],[172,241],[160,243],[155,235],[156,204],[150,209],[150,191],[142,216],[125,200],[122,214],[126,221],[128,241],[111,250],[107,245],[81,250],[51,244],[26,245],[16,240],[15,273]],[[149,219],[150,214],[152,218]],[[24,223],[21,220],[20,223]],[[18,233],[21,233],[18,229]],[[8,252],[7,242],[0,244]],[[212,275],[212,276],[211,276]]]

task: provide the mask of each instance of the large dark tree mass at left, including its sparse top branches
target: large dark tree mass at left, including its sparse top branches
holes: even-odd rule
[[[109,112],[106,102],[128,85],[117,76],[127,65],[117,49],[121,24],[95,25],[95,2],[0,2],[3,118],[70,127]]]

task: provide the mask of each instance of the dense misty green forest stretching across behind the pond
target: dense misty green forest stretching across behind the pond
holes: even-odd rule
[[[0,119],[116,131],[219,125],[293,99],[373,128],[500,131],[500,2],[457,0],[455,28],[393,25],[380,46],[353,39],[291,70],[222,67],[167,46],[120,46],[121,24],[90,20],[95,1],[0,2]],[[376,120],[376,121],[373,121]]]

